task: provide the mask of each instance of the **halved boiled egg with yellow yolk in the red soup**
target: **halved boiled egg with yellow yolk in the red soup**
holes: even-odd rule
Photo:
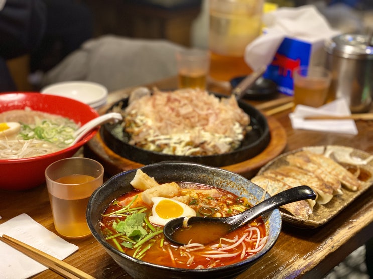
[[[153,197],[153,215],[149,221],[153,224],[164,226],[167,222],[187,216],[196,216],[196,212],[188,205],[170,198]]]

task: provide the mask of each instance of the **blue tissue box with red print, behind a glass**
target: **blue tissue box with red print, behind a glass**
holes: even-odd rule
[[[285,37],[263,76],[276,82],[279,92],[293,95],[293,70],[298,66],[321,64],[325,58],[323,46],[324,40]]]

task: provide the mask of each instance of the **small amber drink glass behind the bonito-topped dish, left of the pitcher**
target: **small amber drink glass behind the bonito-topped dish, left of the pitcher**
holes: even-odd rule
[[[185,49],[176,52],[179,88],[206,88],[210,67],[208,50]]]

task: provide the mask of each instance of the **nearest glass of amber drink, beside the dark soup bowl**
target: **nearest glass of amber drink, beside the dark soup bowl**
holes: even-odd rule
[[[88,200],[103,183],[103,166],[92,159],[72,157],[45,170],[54,226],[66,237],[90,234],[86,221]]]

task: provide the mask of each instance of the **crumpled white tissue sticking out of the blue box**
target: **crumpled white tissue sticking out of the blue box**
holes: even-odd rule
[[[245,61],[253,69],[271,64],[285,37],[315,42],[339,34],[314,5],[281,7],[263,15],[265,33],[247,45]]]

